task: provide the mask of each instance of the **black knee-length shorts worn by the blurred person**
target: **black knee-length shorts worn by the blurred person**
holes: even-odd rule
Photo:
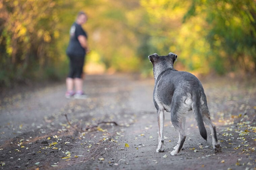
[[[68,56],[69,63],[69,73],[70,78],[81,78],[83,73],[85,56]]]

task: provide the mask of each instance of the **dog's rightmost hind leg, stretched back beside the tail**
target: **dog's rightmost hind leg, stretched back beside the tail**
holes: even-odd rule
[[[202,109],[202,116],[203,116],[203,121],[210,127],[211,129],[211,133],[212,133],[212,144],[213,144],[213,148],[216,152],[220,152],[221,151],[221,145],[220,142],[217,138],[217,133],[216,133],[216,128],[215,125],[213,124],[211,118],[210,118],[210,112],[209,109],[207,108],[207,106]]]

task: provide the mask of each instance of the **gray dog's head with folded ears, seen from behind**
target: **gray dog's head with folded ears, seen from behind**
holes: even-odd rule
[[[177,55],[169,53],[166,56],[158,56],[157,53],[149,55],[149,60],[153,64],[154,75],[158,75],[167,68],[173,68],[175,60],[177,60]]]

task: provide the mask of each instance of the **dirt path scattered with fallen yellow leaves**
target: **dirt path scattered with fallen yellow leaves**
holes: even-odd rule
[[[153,79],[90,75],[85,82],[86,100],[65,99],[64,84],[1,98],[0,169],[256,169],[255,80],[203,80],[223,151],[214,152],[209,128],[206,142],[189,115],[178,156],[170,155],[178,133],[169,113],[165,152],[155,152]],[[91,128],[101,121],[118,126]]]

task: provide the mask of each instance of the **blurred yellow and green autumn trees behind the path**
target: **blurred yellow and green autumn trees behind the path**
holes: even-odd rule
[[[202,75],[256,73],[255,0],[0,0],[0,87],[64,80],[69,29],[88,21],[87,74],[152,75],[148,55],[178,55]]]

